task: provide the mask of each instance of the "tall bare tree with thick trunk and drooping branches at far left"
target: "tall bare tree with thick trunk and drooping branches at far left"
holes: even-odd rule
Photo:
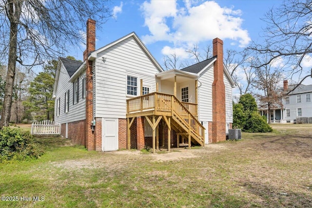
[[[30,68],[55,59],[83,42],[88,18],[103,23],[108,17],[106,0],[0,1],[0,60],[8,63],[0,128],[10,120],[17,62]]]

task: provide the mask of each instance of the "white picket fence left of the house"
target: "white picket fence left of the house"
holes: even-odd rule
[[[45,120],[31,124],[31,134],[60,134],[60,124],[55,124],[54,121]]]

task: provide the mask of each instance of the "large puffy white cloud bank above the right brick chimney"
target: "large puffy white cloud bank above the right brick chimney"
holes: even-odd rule
[[[240,10],[222,8],[215,1],[195,4],[184,0],[179,4],[176,0],[151,0],[141,5],[145,26],[150,31],[150,35],[142,37],[145,43],[165,40],[175,45],[192,45],[218,37],[244,47],[251,41],[248,31],[241,27]]]

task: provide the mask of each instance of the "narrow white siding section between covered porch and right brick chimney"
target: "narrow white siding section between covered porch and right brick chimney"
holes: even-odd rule
[[[212,83],[214,81],[214,66],[208,67],[199,77],[199,120],[213,120]]]

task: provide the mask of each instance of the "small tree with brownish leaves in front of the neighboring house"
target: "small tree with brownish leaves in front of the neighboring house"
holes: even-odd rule
[[[254,58],[254,65],[267,62],[271,57],[259,55]],[[255,68],[255,78],[253,85],[260,93],[254,93],[260,101],[260,107],[268,109],[268,119],[271,123],[271,109],[282,107],[282,92],[278,89],[279,83],[283,80],[282,70],[273,63]]]

